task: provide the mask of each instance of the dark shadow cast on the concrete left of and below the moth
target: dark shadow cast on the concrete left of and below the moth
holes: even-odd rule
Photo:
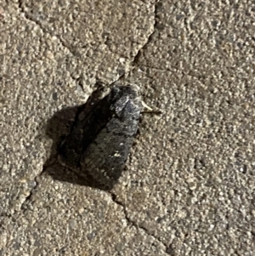
[[[65,139],[65,136],[70,133],[71,126],[77,117],[77,113],[83,106],[84,105],[67,107],[57,111],[54,116],[48,120],[46,125],[46,135],[52,139],[52,146],[50,156],[43,166],[43,174],[48,174],[53,179],[59,181],[109,191],[112,189],[113,185],[116,184],[117,179],[105,180],[105,183],[98,183],[89,175],[89,172],[82,172],[81,174],[79,168],[74,169],[64,167],[58,162],[59,147],[63,139]]]

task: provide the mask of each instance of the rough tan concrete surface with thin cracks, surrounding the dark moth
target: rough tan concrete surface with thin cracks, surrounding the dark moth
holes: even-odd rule
[[[254,255],[254,1],[1,1],[0,35],[0,255]],[[96,81],[162,111],[110,192],[49,175]]]

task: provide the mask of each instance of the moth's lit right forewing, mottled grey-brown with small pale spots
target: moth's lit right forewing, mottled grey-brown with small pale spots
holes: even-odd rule
[[[139,125],[140,105],[129,100],[120,116],[113,116],[81,157],[82,171],[112,187],[122,174]]]

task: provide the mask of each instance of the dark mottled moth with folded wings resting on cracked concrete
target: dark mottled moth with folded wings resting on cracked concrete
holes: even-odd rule
[[[59,162],[112,188],[127,161],[142,109],[134,85],[115,86],[102,99],[92,96],[60,145]]]

